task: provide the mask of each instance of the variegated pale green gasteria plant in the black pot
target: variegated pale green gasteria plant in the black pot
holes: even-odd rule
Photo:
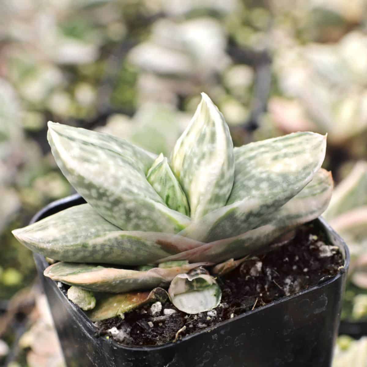
[[[213,275],[317,218],[333,189],[330,172],[320,168],[326,136],[297,132],[233,148],[223,115],[204,93],[170,159],[112,135],[52,122],[48,141],[87,204],[13,233],[32,251],[60,261],[45,276],[125,294],[96,306],[103,313],[118,304],[104,313],[109,317],[167,295],[157,287],[168,286],[172,303],[184,312],[215,308],[221,290]],[[203,266],[212,265],[210,275]],[[92,320],[101,319],[95,311]]]

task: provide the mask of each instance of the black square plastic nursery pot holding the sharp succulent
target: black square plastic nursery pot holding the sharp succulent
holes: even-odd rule
[[[70,206],[84,203],[70,196],[51,203],[32,223]],[[217,326],[183,337],[175,343],[131,347],[95,337],[96,328],[69,302],[55,281],[43,276],[48,266],[34,254],[57,333],[69,367],[330,367],[341,312],[341,298],[349,266],[344,241],[317,219],[344,256],[338,275],[261,308],[222,321]]]

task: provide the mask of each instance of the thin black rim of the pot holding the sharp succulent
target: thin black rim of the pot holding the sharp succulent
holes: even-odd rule
[[[38,211],[32,217],[32,219],[30,221],[30,224],[39,221],[43,217],[47,217],[48,215],[46,215],[46,214],[47,214],[48,211],[53,211],[55,208],[57,208],[57,207],[59,207],[61,205],[66,205],[66,204],[72,203],[73,201],[77,201],[77,200],[84,200],[84,199],[82,199],[82,197],[79,194],[73,194],[73,195],[70,195],[70,196],[66,196],[66,197],[64,197],[62,199],[52,201],[50,204],[48,204],[47,206],[45,206],[44,208],[42,208],[40,211]],[[241,315],[237,315],[237,316],[233,317],[232,319],[220,321],[214,327],[207,327],[207,328],[205,328],[203,330],[197,331],[196,333],[193,333],[193,334],[190,334],[190,335],[186,335],[185,337],[183,337],[182,339],[180,339],[180,340],[178,340],[176,342],[169,342],[169,343],[166,343],[166,344],[163,344],[163,345],[156,345],[156,346],[154,346],[154,345],[153,346],[127,346],[127,345],[122,345],[122,344],[117,343],[114,339],[109,339],[107,341],[106,339],[102,338],[103,342],[112,343],[113,346],[116,347],[116,348],[136,350],[136,351],[139,351],[139,350],[141,350],[141,351],[148,351],[148,350],[149,351],[153,351],[153,350],[161,350],[161,349],[164,349],[164,348],[170,348],[170,347],[172,347],[174,345],[177,345],[178,343],[183,343],[186,340],[191,339],[191,338],[194,338],[197,335],[200,335],[202,333],[211,332],[211,331],[217,329],[218,327],[225,326],[225,325],[227,325],[229,323],[232,323],[233,321],[237,321],[237,320],[242,319],[243,317],[252,315],[253,313],[261,312],[262,310],[264,310],[266,308],[269,308],[269,307],[272,307],[273,305],[277,305],[277,304],[280,304],[282,302],[287,302],[290,299],[294,299],[294,298],[299,297],[300,295],[303,295],[305,293],[312,292],[313,290],[316,290],[317,288],[324,287],[324,286],[327,286],[330,283],[333,283],[335,280],[339,279],[348,270],[348,268],[349,268],[349,262],[350,262],[349,248],[346,245],[345,241],[342,239],[342,237],[339,236],[338,233],[335,232],[335,230],[333,228],[331,228],[331,226],[328,224],[328,222],[323,217],[319,217],[319,218],[317,218],[315,220],[319,221],[320,224],[324,227],[324,229],[327,230],[328,236],[330,236],[330,235],[334,236],[336,239],[338,239],[338,241],[342,245],[340,247],[340,250],[342,251],[342,254],[344,256],[344,266],[341,269],[339,269],[339,272],[338,272],[337,275],[335,275],[333,277],[325,277],[323,279],[320,279],[319,283],[316,284],[315,286],[312,286],[310,288],[307,288],[307,289],[302,290],[300,292],[297,292],[295,294],[292,294],[292,295],[289,295],[289,296],[286,296],[286,297],[277,299],[276,301],[270,302],[269,304],[267,304],[265,306],[261,306],[261,307],[258,307],[256,309],[254,309],[254,310],[250,310],[248,312],[245,312],[245,313],[243,313]],[[40,259],[42,259],[43,265],[44,266],[48,266],[48,263],[47,263],[47,261],[46,261],[46,259],[45,259],[45,257],[43,255],[40,255],[40,254],[37,254],[37,253],[34,252],[34,256],[38,256]],[[53,282],[55,282],[55,281],[53,281]],[[60,288],[58,288],[58,287],[57,287],[57,289],[58,289],[59,292],[61,292],[62,296],[66,298],[66,295],[64,294],[64,292],[62,292],[60,290]],[[79,313],[79,315],[81,317],[83,317],[84,321],[86,321],[86,323],[89,324],[89,326],[91,328],[95,328],[95,326],[92,323],[92,321],[88,318],[88,316],[79,307],[77,307],[76,305],[72,304],[69,300],[68,300],[68,302],[69,302],[70,306],[77,313]]]

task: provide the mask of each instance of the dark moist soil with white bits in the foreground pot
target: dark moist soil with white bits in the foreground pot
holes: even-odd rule
[[[336,275],[343,265],[338,248],[312,223],[307,224],[283,246],[218,277],[222,300],[216,309],[187,315],[166,302],[152,315],[151,305],[145,305],[126,313],[124,320],[115,317],[95,323],[97,335],[113,337],[124,345],[165,344],[315,286],[324,277]]]

